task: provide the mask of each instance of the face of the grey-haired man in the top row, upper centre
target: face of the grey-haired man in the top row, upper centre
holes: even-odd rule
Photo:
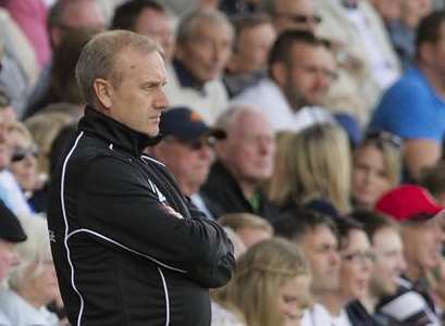
[[[232,38],[228,26],[203,20],[186,42],[177,45],[178,59],[201,83],[213,80],[228,61]]]

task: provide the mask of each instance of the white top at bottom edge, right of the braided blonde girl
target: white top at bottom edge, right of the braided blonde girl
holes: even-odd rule
[[[342,309],[338,316],[333,316],[320,303],[308,309],[301,319],[301,326],[353,326],[346,311]]]

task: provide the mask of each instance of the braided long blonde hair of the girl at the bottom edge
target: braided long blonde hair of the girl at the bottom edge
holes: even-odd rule
[[[251,326],[282,326],[280,289],[286,281],[310,275],[308,264],[295,243],[273,238],[254,244],[237,261],[234,278],[215,301],[234,305]]]

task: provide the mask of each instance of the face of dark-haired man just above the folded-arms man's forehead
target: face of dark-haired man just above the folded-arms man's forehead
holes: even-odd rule
[[[164,50],[165,61],[171,61],[174,51],[174,33],[173,23],[166,13],[145,9],[137,18],[135,32],[154,38]]]

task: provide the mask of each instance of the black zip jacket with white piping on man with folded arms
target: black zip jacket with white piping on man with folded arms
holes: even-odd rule
[[[208,288],[232,276],[225,233],[140,154],[149,142],[87,106],[55,168],[48,223],[72,325],[208,326]]]

